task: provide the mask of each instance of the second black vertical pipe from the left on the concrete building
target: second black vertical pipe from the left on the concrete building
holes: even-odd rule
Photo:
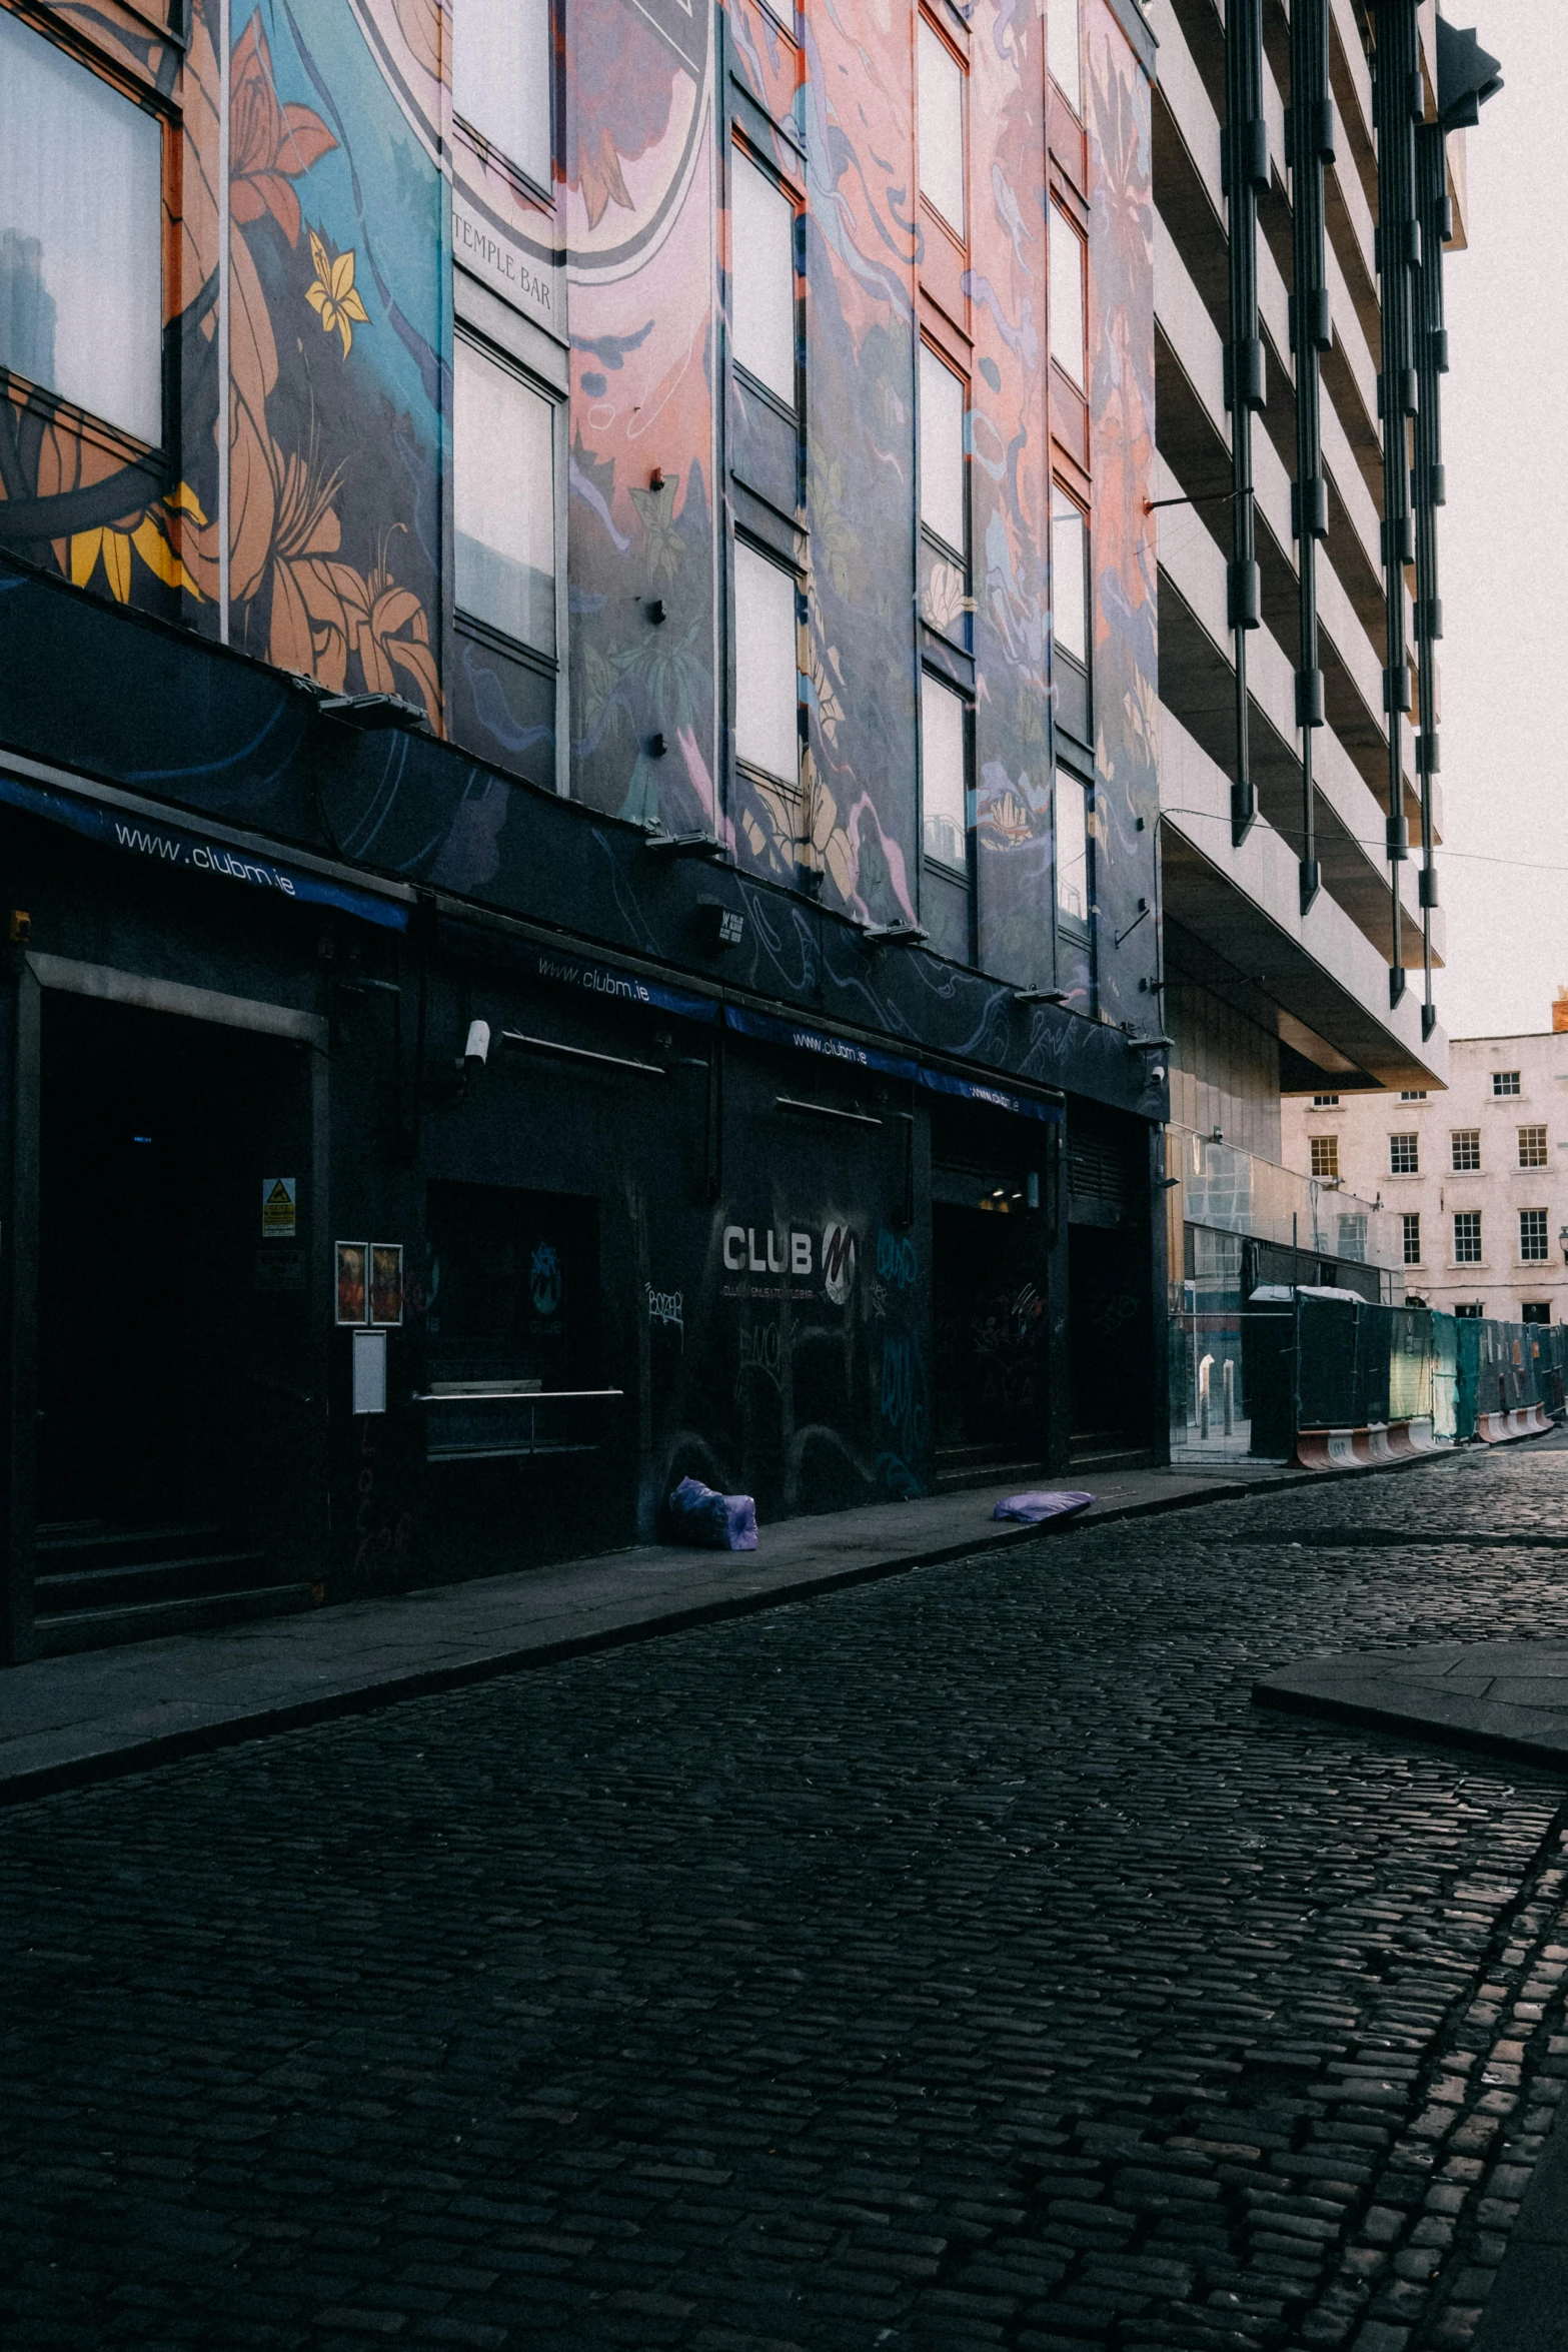
[[[1302,736],[1302,915],[1319,894],[1316,804],[1312,783],[1312,731],[1324,724],[1324,670],[1316,659],[1316,543],[1328,536],[1328,480],[1324,475],[1321,365],[1333,329],[1328,325],[1328,270],[1324,261],[1324,165],[1333,162],[1333,96],[1328,92],[1328,0],[1295,0],[1291,12],[1291,118],[1288,165],[1295,226],[1295,292],[1291,296],[1291,348],[1295,353],[1295,487],[1291,524],[1300,583],[1300,659],[1295,668],[1295,724]]]

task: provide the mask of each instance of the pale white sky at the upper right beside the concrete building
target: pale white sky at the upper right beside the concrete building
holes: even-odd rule
[[[1469,252],[1443,275],[1448,967],[1432,995],[1450,1037],[1483,1037],[1552,1028],[1568,983],[1568,9],[1448,0],[1443,14],[1474,24],[1505,78],[1467,134]]]

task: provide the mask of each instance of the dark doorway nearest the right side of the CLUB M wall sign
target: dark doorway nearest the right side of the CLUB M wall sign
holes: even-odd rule
[[[1046,1451],[1039,1218],[931,1204],[936,1479],[1034,1468]]]

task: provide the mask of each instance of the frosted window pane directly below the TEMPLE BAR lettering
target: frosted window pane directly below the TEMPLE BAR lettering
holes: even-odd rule
[[[555,412],[465,341],[451,386],[458,604],[555,654]]]

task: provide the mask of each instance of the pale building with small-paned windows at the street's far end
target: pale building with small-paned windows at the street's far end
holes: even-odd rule
[[[1563,1028],[1455,1037],[1441,1094],[1291,1096],[1284,1143],[1302,1176],[1368,1195],[1396,1221],[1410,1298],[1446,1315],[1568,1322]]]

